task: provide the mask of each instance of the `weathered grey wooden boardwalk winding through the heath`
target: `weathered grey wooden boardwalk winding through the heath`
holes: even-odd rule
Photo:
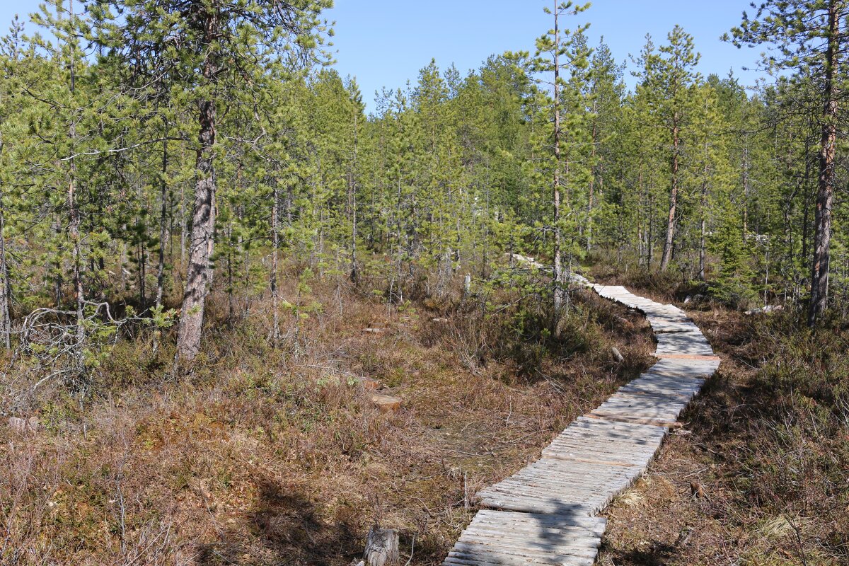
[[[678,415],[719,366],[681,309],[590,284],[605,299],[642,311],[659,361],[576,418],[537,462],[478,492],[481,507],[446,566],[593,564],[606,520],[597,514],[643,474]]]

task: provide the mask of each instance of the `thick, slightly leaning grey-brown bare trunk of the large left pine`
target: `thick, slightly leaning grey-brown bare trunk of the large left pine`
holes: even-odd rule
[[[194,189],[191,243],[188,250],[186,288],[177,333],[177,359],[192,361],[200,350],[200,331],[204,325],[206,295],[212,281],[210,263],[215,244],[215,169],[212,149],[215,145],[215,103],[200,103],[200,149],[195,165],[197,184]]]

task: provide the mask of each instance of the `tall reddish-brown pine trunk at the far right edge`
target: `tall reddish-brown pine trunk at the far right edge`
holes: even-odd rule
[[[829,1],[829,45],[825,52],[823,132],[819,153],[817,205],[814,210],[813,261],[811,269],[811,304],[807,324],[814,328],[828,305],[829,244],[831,240],[831,206],[835,188],[835,146],[837,142],[837,98],[835,73],[838,67],[838,34],[841,19],[836,0]]]

